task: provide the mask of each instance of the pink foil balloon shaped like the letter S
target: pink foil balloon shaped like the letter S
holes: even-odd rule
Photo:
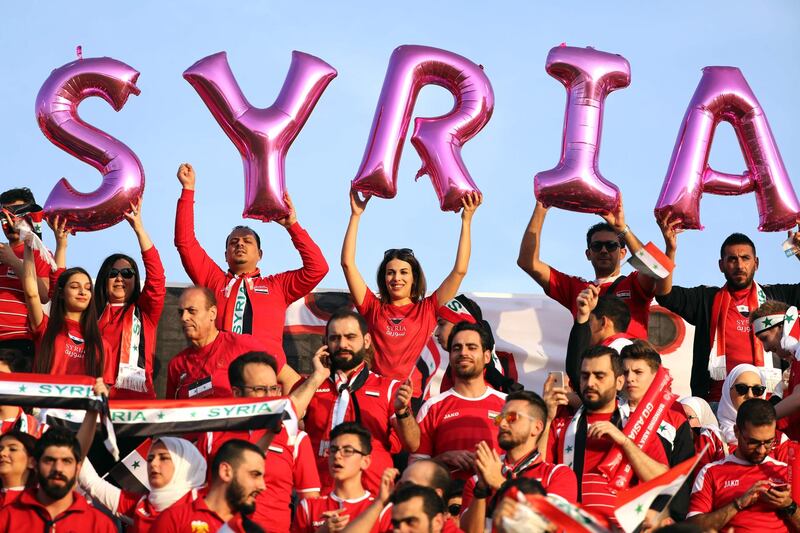
[[[44,204],[52,219],[66,219],[75,231],[96,231],[120,222],[130,203],[144,193],[139,158],[122,142],[85,123],[78,104],[99,96],[119,111],[131,94],[138,95],[139,72],[116,59],[79,59],[55,69],[36,96],[36,120],[45,137],[103,175],[94,192],[76,191],[65,178],[56,183]]]

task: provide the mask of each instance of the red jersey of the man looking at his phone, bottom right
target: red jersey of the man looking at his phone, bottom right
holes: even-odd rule
[[[758,481],[786,483],[788,476],[789,469],[786,463],[772,457],[767,457],[763,463],[754,465],[730,454],[722,461],[704,466],[697,474],[687,516],[716,511],[742,496]],[[721,530],[728,528],[733,528],[737,532],[789,531],[783,519],[775,513],[775,509],[761,502],[756,502],[736,513]]]

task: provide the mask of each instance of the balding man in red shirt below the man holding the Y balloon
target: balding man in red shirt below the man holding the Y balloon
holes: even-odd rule
[[[229,398],[228,365],[243,353],[264,351],[252,335],[219,331],[215,325],[217,301],[210,289],[189,287],[178,300],[178,313],[189,347],[167,368],[167,398]],[[283,353],[283,352],[281,352]],[[297,372],[276,356],[278,381],[288,393],[297,382]]]

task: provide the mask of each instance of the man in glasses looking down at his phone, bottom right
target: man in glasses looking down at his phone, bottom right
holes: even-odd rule
[[[706,530],[797,531],[800,513],[792,500],[786,463],[770,457],[775,409],[760,398],[736,414],[736,451],[704,466],[695,478],[688,521]]]

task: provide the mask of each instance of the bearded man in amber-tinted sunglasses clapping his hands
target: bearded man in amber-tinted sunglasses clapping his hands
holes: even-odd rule
[[[475,469],[464,487],[461,507],[461,529],[466,533],[484,531],[488,502],[506,481],[516,478],[533,478],[539,481],[548,494],[558,494],[570,502],[578,498],[575,473],[566,465],[542,460],[537,448],[539,436],[547,421],[544,400],[531,391],[512,392],[506,397],[503,411],[495,418],[497,443],[505,454],[499,455],[486,442],[480,442],[476,451]]]

